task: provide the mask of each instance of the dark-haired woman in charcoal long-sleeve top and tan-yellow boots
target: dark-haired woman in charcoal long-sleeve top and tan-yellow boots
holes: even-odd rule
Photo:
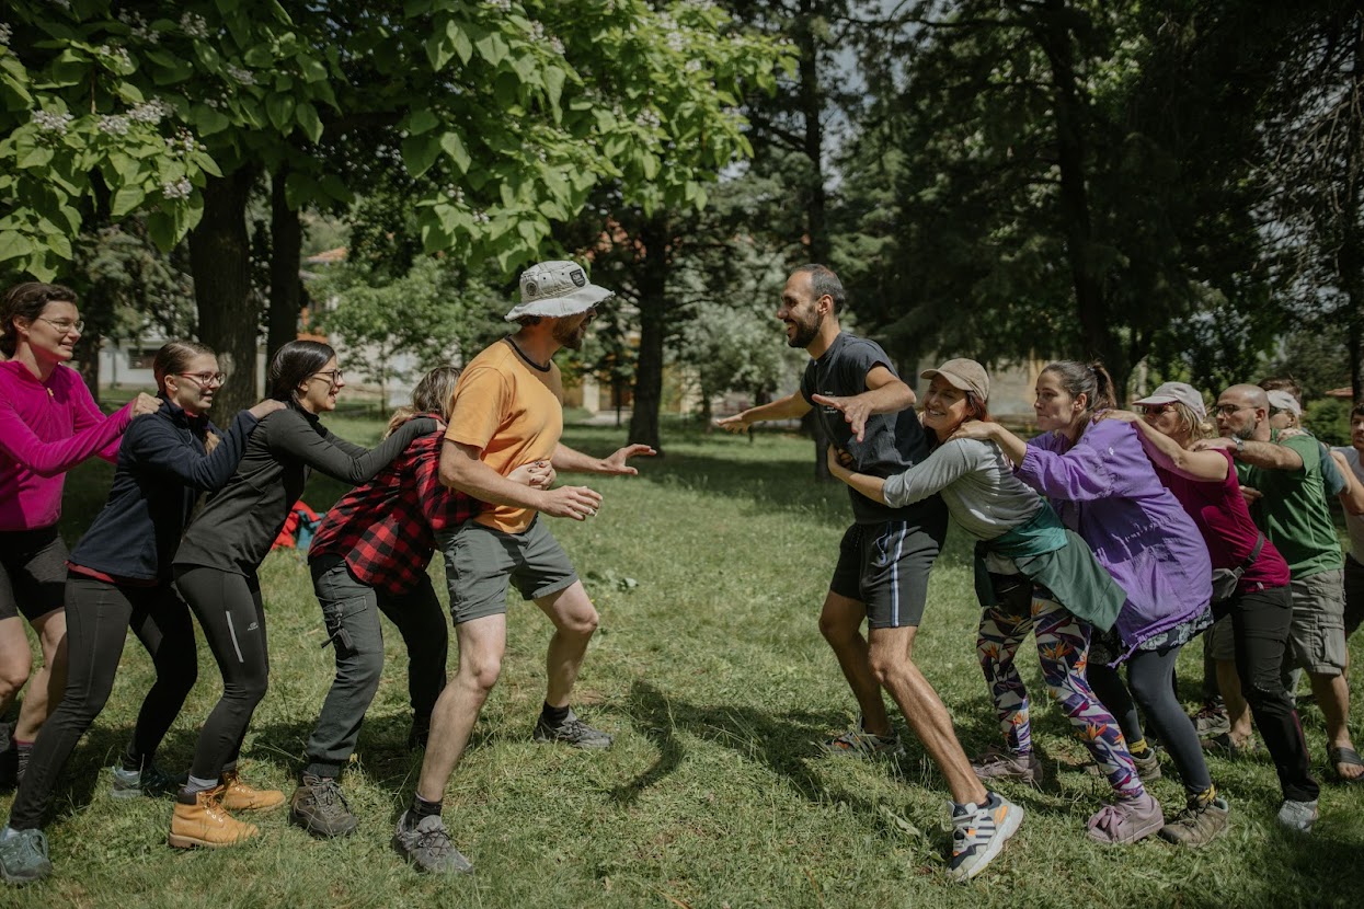
[[[364,482],[419,435],[431,418],[409,420],[374,450],[333,436],[318,414],[336,409],[344,387],[336,352],[315,341],[284,345],[270,361],[270,397],[286,407],[256,427],[228,485],[190,525],[175,557],[175,579],[203,627],[222,672],[222,698],[199,733],[190,781],[176,799],[172,846],[225,846],[256,833],[228,811],[273,808],[278,790],[237,778],[237,754],[269,681],[265,609],[256,570],[284,526],[312,469]]]

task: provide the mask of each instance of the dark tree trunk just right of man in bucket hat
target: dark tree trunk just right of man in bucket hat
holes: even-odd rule
[[[630,414],[632,444],[663,448],[659,439],[659,407],[663,405],[663,337],[667,334],[668,218],[663,213],[644,221],[637,237],[640,262],[640,358],[634,367],[634,410]]]

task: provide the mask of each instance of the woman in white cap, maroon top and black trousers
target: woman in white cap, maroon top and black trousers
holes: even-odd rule
[[[1206,429],[1203,395],[1183,382],[1166,382],[1136,406],[1142,416],[1109,410],[1099,420],[1123,420],[1139,429],[1142,447],[1161,482],[1174,493],[1203,534],[1213,568],[1241,572],[1234,593],[1213,602],[1215,617],[1230,616],[1236,647],[1233,672],[1218,664],[1218,683],[1233,717],[1229,739],[1233,747],[1247,744],[1251,735],[1248,700],[1249,713],[1278,769],[1284,790],[1278,820],[1305,833],[1316,820],[1318,785],[1312,780],[1312,762],[1307,756],[1297,710],[1279,675],[1293,617],[1288,563],[1251,519],[1230,451],[1189,450],[1199,439],[1213,435]]]

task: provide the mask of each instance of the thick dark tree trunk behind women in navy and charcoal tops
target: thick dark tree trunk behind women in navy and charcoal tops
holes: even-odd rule
[[[261,313],[251,293],[246,218],[254,183],[251,169],[210,177],[203,188],[203,219],[190,234],[199,339],[217,350],[218,365],[228,373],[214,407],[226,421],[259,395],[255,373]]]

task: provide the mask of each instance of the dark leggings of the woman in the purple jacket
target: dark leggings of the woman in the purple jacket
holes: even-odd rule
[[[1127,740],[1143,737],[1142,721],[1136,715],[1136,703],[1142,705],[1147,721],[1155,728],[1161,744],[1170,752],[1174,767],[1189,792],[1204,792],[1213,785],[1203,759],[1203,748],[1198,741],[1194,721],[1184,713],[1174,696],[1174,661],[1180,647],[1161,650],[1138,650],[1127,660],[1127,685],[1117,669],[1101,662],[1091,662],[1090,687],[1099,700],[1117,718]],[[1136,698],[1136,703],[1132,699]]]

